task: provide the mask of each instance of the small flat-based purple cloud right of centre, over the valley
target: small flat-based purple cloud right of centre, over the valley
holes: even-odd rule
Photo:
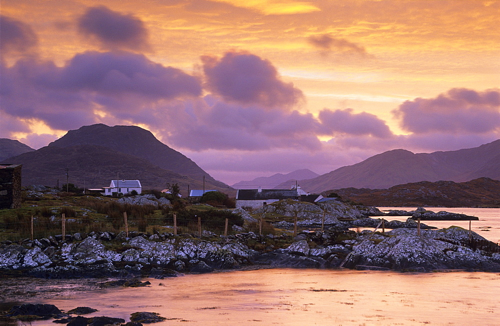
[[[353,113],[352,109],[329,110],[319,112],[322,124],[321,132],[325,135],[344,133],[349,135],[370,135],[378,138],[392,136],[392,132],[376,115],[366,112]]]

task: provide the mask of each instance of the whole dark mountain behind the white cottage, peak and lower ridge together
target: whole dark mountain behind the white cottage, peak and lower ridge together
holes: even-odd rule
[[[27,147],[27,146],[26,146]],[[213,179],[189,158],[157,140],[137,126],[94,124],[66,135],[37,151],[10,157],[4,163],[22,164],[22,185],[55,186],[69,182],[79,187],[109,186],[111,179],[138,179],[146,189],[164,189],[178,183],[182,194],[190,189],[217,189],[234,194],[234,189]]]

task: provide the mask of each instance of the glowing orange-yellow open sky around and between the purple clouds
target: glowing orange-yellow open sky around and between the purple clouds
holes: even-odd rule
[[[227,51],[245,51],[270,62],[280,80],[293,83],[303,93],[303,99],[294,104],[293,110],[317,117],[324,108],[350,108],[353,114],[375,115],[394,135],[412,134],[392,112],[406,100],[436,98],[453,88],[481,92],[500,85],[500,1],[1,0],[0,3],[2,15],[29,25],[36,33],[38,41],[31,51],[38,59],[53,61],[57,66],[64,66],[78,53],[103,51],[95,38],[78,31],[77,21],[89,7],[105,4],[112,11],[143,22],[147,29],[146,45],[133,51],[153,62],[202,79],[201,56],[220,58]],[[12,66],[22,55],[6,53],[3,60],[6,66]],[[209,93],[209,89],[203,89],[203,94]],[[203,162],[198,160],[207,158],[206,162],[211,162],[208,157],[215,155],[214,152],[227,157],[232,155],[228,153],[239,150],[175,146],[165,130],[144,121],[112,116],[105,109],[92,109],[95,122],[111,125],[129,122],[148,128],[167,145],[188,153],[201,167]],[[15,118],[9,112],[8,116]],[[3,119],[6,116],[3,114]],[[30,135],[31,146],[40,147],[43,141],[67,131],[50,127],[40,117],[22,119],[29,131],[11,130],[2,137],[24,139],[30,145],[26,138]],[[489,134],[482,133],[478,142],[498,138],[498,127],[488,130]],[[45,135],[35,141],[36,134]],[[321,141],[335,140],[335,134],[317,137]],[[457,141],[456,146],[459,144]],[[403,145],[398,142],[381,149]],[[379,150],[352,148],[350,158],[339,160],[338,164],[355,163]],[[441,149],[437,145],[413,148]],[[221,179],[239,181],[235,179],[238,171],[224,172],[215,163],[205,164],[215,177],[219,173]],[[330,168],[322,166],[316,170],[324,173]],[[276,167],[264,171],[290,172]]]

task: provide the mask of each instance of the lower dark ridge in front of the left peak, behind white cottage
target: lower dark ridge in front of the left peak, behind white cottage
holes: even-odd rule
[[[71,147],[45,146],[9,159],[22,164],[22,185],[56,186],[66,183],[65,168],[69,168],[69,182],[85,188],[107,187],[111,180],[138,179],[144,189],[164,189],[166,183],[178,183],[182,194],[190,189],[202,189],[202,180],[165,170],[146,159],[124,154],[102,146],[76,145]],[[230,188],[219,187],[205,180],[206,189],[226,193]]]

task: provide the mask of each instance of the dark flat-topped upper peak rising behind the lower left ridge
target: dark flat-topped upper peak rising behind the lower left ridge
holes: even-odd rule
[[[106,147],[123,154],[145,159],[161,169],[197,179],[201,184],[204,176],[206,189],[209,187],[228,189],[226,184],[213,179],[182,153],[160,142],[150,131],[137,126],[109,127],[101,123],[83,126],[77,130],[69,130],[64,136],[48,144],[48,147],[72,147],[77,145]],[[133,179],[138,179],[138,177],[133,177]],[[164,186],[162,187],[164,188]],[[199,189],[202,189],[202,186]]]

